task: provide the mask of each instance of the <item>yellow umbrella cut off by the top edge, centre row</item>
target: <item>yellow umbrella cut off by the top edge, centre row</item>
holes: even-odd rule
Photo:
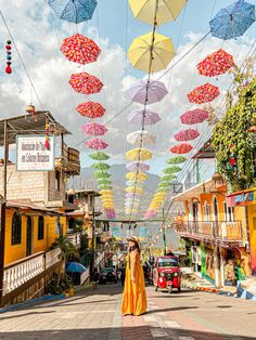
[[[162,25],[175,21],[188,0],[158,0],[156,24]],[[154,25],[156,0],[129,0],[136,18]]]

